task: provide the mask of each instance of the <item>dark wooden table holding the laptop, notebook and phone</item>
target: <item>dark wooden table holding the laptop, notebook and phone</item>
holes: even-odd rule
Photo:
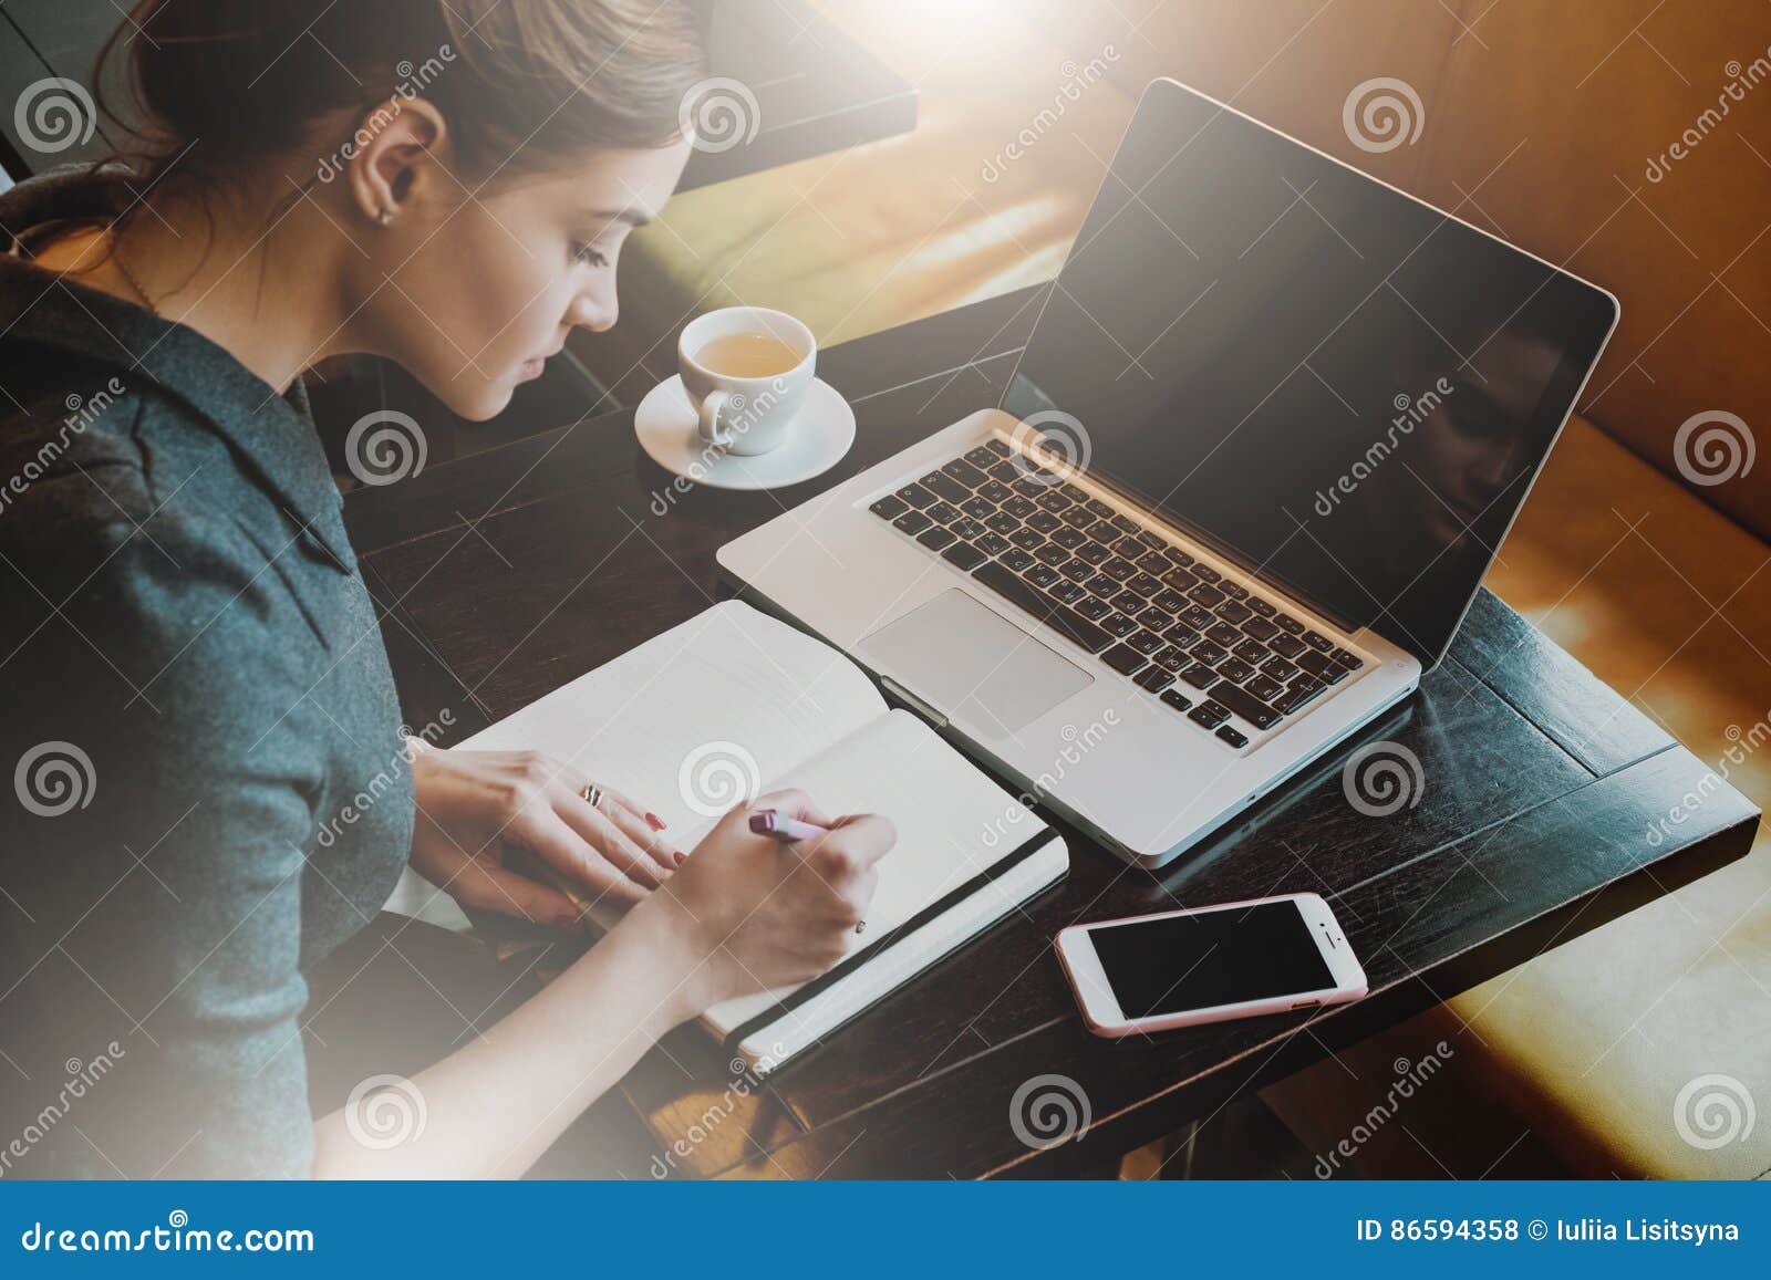
[[[354,494],[347,517],[388,609],[409,722],[448,706],[473,731],[705,609],[719,593],[719,544],[994,404],[1038,292],[822,352],[859,434],[836,471],[788,490],[698,490],[666,505],[669,476],[622,413]],[[593,1112],[599,1133],[618,1135],[604,1138],[609,1174],[1098,1170],[1741,857],[1757,827],[1727,786],[1686,806],[1707,767],[1486,591],[1450,659],[1360,740],[1376,738],[1420,760],[1415,807],[1357,813],[1342,754],[1158,875],[1066,832],[1061,887],[767,1087],[731,1076],[700,1029],[680,1029]],[[1084,1030],[1052,954],[1059,928],[1291,891],[1334,903],[1365,961],[1367,1000],[1153,1039]],[[1034,1151],[1017,1138],[1011,1098],[1040,1075],[1086,1092],[1082,1140]]]

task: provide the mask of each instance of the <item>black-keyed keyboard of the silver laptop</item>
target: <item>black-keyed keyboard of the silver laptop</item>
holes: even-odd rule
[[[1365,666],[999,439],[868,510],[1231,749]]]

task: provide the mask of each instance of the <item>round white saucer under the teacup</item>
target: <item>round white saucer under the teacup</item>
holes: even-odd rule
[[[822,476],[855,443],[855,411],[824,379],[811,379],[786,439],[767,453],[721,453],[696,432],[694,405],[682,377],[659,382],[634,413],[634,436],[646,455],[671,474],[710,489],[779,489]]]

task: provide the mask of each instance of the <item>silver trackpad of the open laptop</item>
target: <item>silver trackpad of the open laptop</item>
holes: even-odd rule
[[[949,719],[1008,736],[1094,683],[1082,667],[958,588],[855,646]]]

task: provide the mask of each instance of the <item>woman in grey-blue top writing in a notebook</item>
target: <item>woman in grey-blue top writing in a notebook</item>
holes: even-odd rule
[[[733,813],[685,855],[551,761],[407,767],[299,374],[374,352],[480,420],[615,324],[622,241],[691,149],[696,28],[653,0],[149,0],[119,57],[143,152],[0,197],[0,1174],[522,1172],[659,1034],[832,963],[893,832],[788,852]],[[305,975],[407,857],[576,922],[507,844],[630,912],[416,1076],[411,1140],[310,1119]]]

